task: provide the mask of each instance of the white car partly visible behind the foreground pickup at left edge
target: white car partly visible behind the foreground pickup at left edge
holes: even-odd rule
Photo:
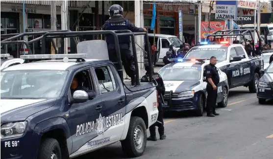
[[[20,58],[12,58],[10,56],[10,54],[1,54],[1,70],[3,68],[7,68],[9,66],[13,66],[13,65],[18,65],[18,64],[23,64],[25,62],[25,60],[20,59]]]

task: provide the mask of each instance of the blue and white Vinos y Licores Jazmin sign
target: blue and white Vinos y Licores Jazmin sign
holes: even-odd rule
[[[216,0],[215,19],[236,19],[237,1],[233,0]]]

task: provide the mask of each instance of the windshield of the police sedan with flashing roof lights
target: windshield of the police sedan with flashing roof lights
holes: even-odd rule
[[[158,73],[163,81],[199,80],[201,67],[164,67]]]

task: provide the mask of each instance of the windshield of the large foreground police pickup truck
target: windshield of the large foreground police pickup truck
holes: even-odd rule
[[[1,72],[1,99],[59,97],[68,71],[16,70]]]

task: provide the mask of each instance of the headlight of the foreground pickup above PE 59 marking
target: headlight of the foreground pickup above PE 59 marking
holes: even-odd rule
[[[6,123],[1,126],[1,138],[22,136],[25,132],[26,121]]]

